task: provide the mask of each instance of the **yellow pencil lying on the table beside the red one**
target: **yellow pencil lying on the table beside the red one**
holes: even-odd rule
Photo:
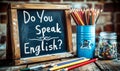
[[[72,65],[75,65],[75,64],[78,64],[78,63],[81,63],[81,62],[84,62],[84,61],[88,61],[88,60],[89,59],[84,59],[84,60],[79,60],[77,62],[65,64],[65,65],[62,65],[62,66],[56,66],[56,67],[53,67],[53,68],[49,69],[49,71],[55,71],[55,70],[58,70],[58,69],[61,69],[61,68],[65,68],[65,67],[68,67],[68,66],[72,66]]]

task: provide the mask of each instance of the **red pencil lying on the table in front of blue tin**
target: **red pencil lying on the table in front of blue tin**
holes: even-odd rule
[[[78,68],[78,67],[80,67],[80,66],[84,66],[84,65],[90,64],[90,63],[92,63],[92,62],[95,62],[96,60],[98,60],[98,59],[97,59],[97,58],[94,58],[94,59],[91,59],[91,60],[82,62],[82,63],[80,63],[80,64],[76,64],[76,65],[74,65],[74,66],[70,66],[70,67],[64,69],[63,71],[69,71],[69,70]]]

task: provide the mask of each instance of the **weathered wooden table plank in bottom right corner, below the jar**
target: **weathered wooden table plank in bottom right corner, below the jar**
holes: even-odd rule
[[[120,61],[116,60],[102,60],[96,61],[96,65],[102,71],[119,71],[120,70]]]

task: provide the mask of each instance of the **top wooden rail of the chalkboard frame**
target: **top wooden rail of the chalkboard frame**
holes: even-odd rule
[[[11,4],[11,8],[15,9],[70,9],[70,5],[58,5],[58,4]]]

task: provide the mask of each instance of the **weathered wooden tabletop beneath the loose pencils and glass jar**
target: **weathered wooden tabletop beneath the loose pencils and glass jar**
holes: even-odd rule
[[[64,60],[66,59],[48,61],[48,62],[43,62],[43,63],[48,64],[48,63],[55,63],[55,62],[60,62]],[[40,64],[41,63],[20,65],[20,66],[0,67],[0,71],[19,71],[20,69],[27,68],[27,67],[33,67],[33,66],[37,66]],[[44,68],[42,70],[35,69],[35,71],[48,71],[48,68]],[[84,65],[82,67],[79,67],[79,68],[76,68],[70,71],[120,71],[120,60],[97,60],[94,63],[90,63],[88,65]]]

